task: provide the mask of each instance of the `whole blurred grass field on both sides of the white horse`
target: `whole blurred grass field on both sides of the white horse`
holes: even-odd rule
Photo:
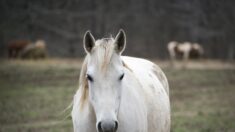
[[[70,110],[63,110],[77,89],[80,66],[75,60],[1,60],[0,131],[73,131],[66,118]],[[172,132],[235,131],[234,69],[163,70],[170,83]]]

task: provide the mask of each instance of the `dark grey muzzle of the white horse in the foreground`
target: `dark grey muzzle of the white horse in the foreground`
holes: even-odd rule
[[[103,120],[97,123],[98,132],[116,132],[118,129],[118,121]]]

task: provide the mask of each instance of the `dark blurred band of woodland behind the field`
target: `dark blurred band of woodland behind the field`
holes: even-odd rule
[[[81,57],[82,38],[127,34],[127,53],[166,59],[169,41],[197,42],[209,58],[235,58],[233,0],[1,0],[1,56],[12,39],[44,39],[51,56]]]

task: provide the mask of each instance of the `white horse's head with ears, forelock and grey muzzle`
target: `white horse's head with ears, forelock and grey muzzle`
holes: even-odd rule
[[[115,132],[118,129],[117,116],[121,102],[122,82],[125,79],[121,54],[125,45],[126,36],[123,30],[119,31],[115,39],[95,40],[90,31],[84,35],[88,100],[96,115],[98,132]]]

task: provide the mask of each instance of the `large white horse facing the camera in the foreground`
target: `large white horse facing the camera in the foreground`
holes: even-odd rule
[[[168,81],[154,63],[124,57],[126,36],[95,41],[87,31],[87,53],[74,96],[75,132],[170,132]]]

